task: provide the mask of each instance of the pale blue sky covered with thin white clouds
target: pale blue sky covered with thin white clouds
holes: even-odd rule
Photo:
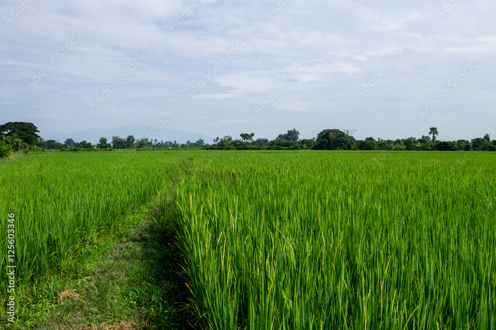
[[[494,0],[0,0],[0,122],[496,139]]]

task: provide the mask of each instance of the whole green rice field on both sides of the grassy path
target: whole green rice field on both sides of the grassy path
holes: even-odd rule
[[[496,329],[495,173],[483,152],[35,154],[0,165],[1,228],[15,213],[33,285],[174,181],[198,329]]]

